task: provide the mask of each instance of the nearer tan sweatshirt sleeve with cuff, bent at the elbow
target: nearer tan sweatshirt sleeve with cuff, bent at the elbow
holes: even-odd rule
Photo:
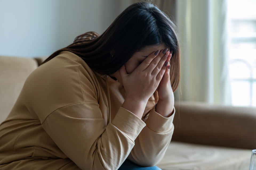
[[[125,161],[146,124],[120,107],[105,127],[98,103],[92,101],[59,108],[42,126],[79,168],[113,170]]]

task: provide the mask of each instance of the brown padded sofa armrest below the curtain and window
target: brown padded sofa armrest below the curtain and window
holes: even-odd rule
[[[176,102],[173,141],[256,148],[256,108]]]

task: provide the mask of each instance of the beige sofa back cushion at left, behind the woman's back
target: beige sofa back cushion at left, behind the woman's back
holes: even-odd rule
[[[37,66],[33,58],[0,56],[0,124],[13,108],[26,78]]]

